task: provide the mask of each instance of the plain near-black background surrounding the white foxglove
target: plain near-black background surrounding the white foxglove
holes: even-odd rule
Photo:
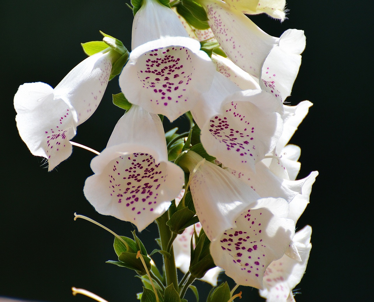
[[[365,7],[343,3],[289,0],[289,19],[282,24],[262,15],[252,18],[269,34],[279,36],[288,28],[298,28],[307,37],[299,76],[287,99],[291,105],[302,100],[314,103],[291,142],[302,150],[299,177],[320,172],[310,205],[298,222],[298,228],[313,227],[313,248],[297,287],[298,302],[373,299],[368,293],[373,281],[369,275],[373,268],[373,198],[369,199],[373,28],[364,16]],[[87,221],[73,221],[77,212],[121,235],[131,236],[134,229],[95,213],[85,200],[82,189],[92,174],[93,155],[74,148],[68,161],[48,173],[42,159],[31,155],[19,137],[13,109],[19,85],[43,81],[55,87],[85,59],[80,43],[101,40],[99,30],[130,49],[132,12],[125,4],[122,0],[5,0],[0,6],[0,88],[5,106],[1,110],[0,296],[90,301],[73,297],[75,286],[119,302],[136,301],[135,293],[141,291],[132,271],[105,263],[116,260],[113,236]],[[118,92],[116,78],[95,114],[79,126],[74,141],[104,149],[123,113],[111,103],[111,93]],[[154,237],[155,225],[140,234],[148,251],[156,248]],[[160,256],[154,259],[160,263]],[[210,286],[202,284],[202,288],[200,301],[205,301]],[[256,289],[240,290],[243,301],[263,301]]]

